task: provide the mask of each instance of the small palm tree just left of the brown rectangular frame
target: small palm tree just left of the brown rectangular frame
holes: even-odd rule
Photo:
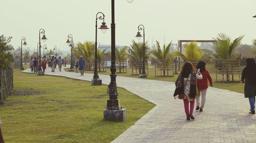
[[[167,60],[167,62],[164,62],[163,66],[164,68],[167,68],[169,65],[169,61],[170,59],[172,59],[172,53],[170,52],[170,45],[172,44],[172,41],[170,41],[170,43],[165,46],[165,44],[163,45],[163,49],[161,49],[161,46],[159,44],[159,41],[157,42],[157,49],[152,50],[151,53],[154,55],[154,58],[157,60]],[[163,70],[163,76],[165,76],[165,70]]]

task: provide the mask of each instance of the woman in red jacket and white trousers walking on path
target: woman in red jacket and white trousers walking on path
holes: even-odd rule
[[[206,64],[204,61],[199,61],[197,64],[197,70],[200,69],[200,73],[203,75],[202,80],[197,80],[198,94],[197,94],[197,100],[196,100],[196,102],[197,102],[196,110],[199,110],[199,111],[203,111],[203,108],[204,108],[206,92],[207,92],[207,88],[208,88],[208,80],[210,82],[210,87],[212,87],[212,80],[211,80],[209,72],[205,69],[205,65]],[[202,100],[201,100],[201,106],[200,106],[200,96],[201,95],[202,95]]]

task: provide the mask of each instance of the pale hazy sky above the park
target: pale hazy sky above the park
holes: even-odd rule
[[[115,2],[116,45],[130,45],[137,26],[144,24],[149,44],[162,45],[173,40],[211,40],[218,33],[231,38],[245,35],[242,43],[256,39],[255,0],[126,0]],[[57,45],[68,50],[66,40],[72,34],[75,42],[95,41],[95,16],[105,14],[110,27],[111,0],[1,0],[0,34],[12,36],[11,44],[20,46],[26,37],[28,47],[36,48],[39,29],[44,28],[48,48]],[[99,21],[100,25],[101,21]],[[98,31],[101,45],[111,44],[111,30]]]

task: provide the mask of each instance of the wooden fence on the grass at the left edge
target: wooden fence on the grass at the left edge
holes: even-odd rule
[[[13,69],[0,70],[0,103],[3,103],[13,89]]]

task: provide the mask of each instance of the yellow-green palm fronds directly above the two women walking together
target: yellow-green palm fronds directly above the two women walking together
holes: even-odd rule
[[[190,62],[199,61],[202,58],[202,52],[196,41],[191,41],[189,44],[185,44],[185,54],[180,51],[174,51],[173,55],[179,56],[183,60]]]

